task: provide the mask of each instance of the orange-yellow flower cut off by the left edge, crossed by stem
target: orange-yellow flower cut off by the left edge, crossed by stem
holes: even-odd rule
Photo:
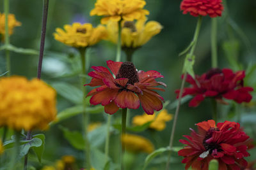
[[[20,26],[21,23],[16,20],[15,15],[8,15],[8,31],[9,35],[13,34],[13,28]],[[5,15],[0,13],[0,34],[5,34]]]

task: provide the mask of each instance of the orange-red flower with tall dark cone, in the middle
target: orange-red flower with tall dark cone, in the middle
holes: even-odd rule
[[[89,92],[87,96],[92,96],[90,103],[101,104],[106,113],[113,114],[119,108],[138,109],[141,106],[149,114],[154,114],[154,110],[163,108],[163,97],[154,90],[161,90],[158,85],[166,85],[156,81],[156,78],[163,78],[157,71],[136,71],[132,62],[107,61],[107,65],[116,78],[106,67],[92,68],[95,71],[88,75],[92,77],[89,84],[91,87],[100,86]]]

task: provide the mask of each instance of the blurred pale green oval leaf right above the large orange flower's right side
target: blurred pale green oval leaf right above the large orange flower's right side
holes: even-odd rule
[[[58,92],[58,94],[60,94],[60,96],[64,97],[68,101],[75,104],[83,103],[83,92],[77,87],[65,82],[52,83],[51,86]]]

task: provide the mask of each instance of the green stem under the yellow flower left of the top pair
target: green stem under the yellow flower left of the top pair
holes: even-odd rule
[[[82,83],[82,87],[83,85],[86,83],[86,48],[80,48],[79,49],[80,52],[80,56],[81,56],[81,64],[82,64],[82,76],[81,76],[81,83]],[[83,87],[83,136],[84,136],[84,141],[85,141],[85,148],[84,148],[84,153],[85,153],[85,157],[86,157],[86,167],[87,169],[91,169],[91,160],[90,160],[90,143],[88,140],[88,134],[87,134],[87,127],[89,124],[89,120],[90,120],[90,115],[88,113],[86,113],[86,100],[85,100],[85,96],[86,95],[86,88]]]

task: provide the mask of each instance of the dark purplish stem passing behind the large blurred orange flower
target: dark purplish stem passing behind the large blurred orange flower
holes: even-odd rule
[[[44,57],[45,32],[46,32],[46,25],[47,25],[48,7],[49,7],[49,0],[44,0],[40,53],[39,53],[39,60],[38,60],[38,67],[37,67],[37,78],[38,79],[41,79],[41,73],[42,73],[42,63],[43,63],[43,57]],[[31,131],[28,131],[26,139],[27,140],[31,139]],[[27,164],[28,164],[28,153],[25,155],[25,159],[24,159],[24,170],[27,169]]]

